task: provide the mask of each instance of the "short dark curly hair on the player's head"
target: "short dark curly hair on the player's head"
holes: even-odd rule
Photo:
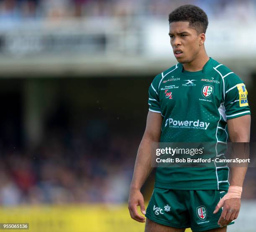
[[[208,26],[206,13],[195,5],[182,5],[169,14],[169,24],[179,21],[189,22],[189,28],[197,33],[205,33]]]

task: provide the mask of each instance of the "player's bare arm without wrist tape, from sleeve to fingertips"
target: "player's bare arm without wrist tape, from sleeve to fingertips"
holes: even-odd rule
[[[153,144],[160,141],[162,120],[161,113],[148,111],[146,130],[138,148],[128,200],[131,218],[138,222],[145,222],[145,217],[138,214],[137,206],[141,207],[142,214],[146,214],[141,187],[153,169],[151,149]]]

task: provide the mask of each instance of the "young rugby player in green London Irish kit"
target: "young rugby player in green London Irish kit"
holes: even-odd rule
[[[146,232],[225,232],[238,217],[246,168],[157,168],[145,212],[141,186],[150,174],[154,142],[248,142],[250,109],[243,81],[205,51],[205,12],[184,5],[169,15],[169,36],[178,63],[149,87],[146,130],[138,148],[128,202],[131,218]],[[183,125],[183,126],[182,126]],[[227,133],[228,132],[228,133]],[[217,156],[216,149],[216,156]],[[224,197],[225,196],[225,197]],[[221,199],[221,201],[220,201]],[[223,208],[222,208],[223,207]]]

